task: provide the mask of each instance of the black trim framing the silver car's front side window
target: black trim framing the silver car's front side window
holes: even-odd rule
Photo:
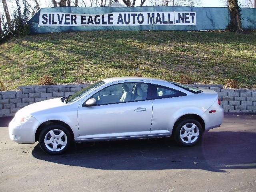
[[[103,89],[105,88],[108,88],[110,86],[113,86],[113,85],[118,85],[118,84],[128,84],[128,83],[141,83],[141,84],[147,84],[148,85],[148,90],[147,90],[147,98],[144,99],[144,100],[136,100],[136,101],[126,101],[126,102],[116,102],[116,103],[107,103],[107,104],[96,104],[96,106],[102,106],[102,105],[112,105],[112,104],[121,104],[121,103],[129,103],[129,102],[138,102],[138,101],[148,101],[148,100],[152,100],[152,84],[149,83],[149,82],[120,82],[120,83],[116,83],[116,84],[112,84],[112,85],[109,85],[109,86],[106,86],[104,88],[102,88],[101,90],[99,90],[98,92],[102,91]],[[134,92],[134,86],[132,87],[132,92]],[[94,93],[92,96],[90,96],[88,99],[85,100],[85,102],[82,104],[83,107],[85,107],[85,103],[87,100],[89,100],[90,98],[92,98],[95,94],[97,94],[98,92]]]

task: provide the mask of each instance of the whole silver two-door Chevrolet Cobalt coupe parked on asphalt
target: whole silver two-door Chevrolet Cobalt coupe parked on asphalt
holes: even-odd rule
[[[193,146],[222,120],[223,109],[213,90],[155,78],[116,77],[72,96],[20,109],[9,124],[9,134],[17,143],[39,141],[48,154],[65,152],[73,141],[171,135],[178,144]]]

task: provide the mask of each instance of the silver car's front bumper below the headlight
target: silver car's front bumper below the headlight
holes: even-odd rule
[[[38,120],[36,120],[33,116],[23,124],[16,124],[15,122],[11,121],[8,128],[10,139],[17,143],[34,144],[38,124]]]

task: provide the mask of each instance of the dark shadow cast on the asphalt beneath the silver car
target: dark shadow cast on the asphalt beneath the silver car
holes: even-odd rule
[[[208,132],[193,147],[180,147],[170,138],[104,141],[76,144],[69,152],[50,156],[32,150],[34,158],[103,170],[223,169],[256,168],[256,133]]]

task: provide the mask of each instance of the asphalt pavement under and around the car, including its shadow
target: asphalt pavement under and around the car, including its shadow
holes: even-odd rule
[[[0,118],[0,192],[256,191],[256,115],[225,115],[198,145],[169,138],[77,144],[50,156],[10,140]]]

